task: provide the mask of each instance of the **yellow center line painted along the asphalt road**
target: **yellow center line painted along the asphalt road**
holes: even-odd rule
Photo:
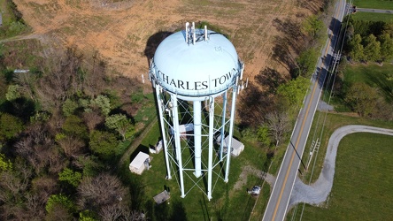
[[[339,2],[339,10],[338,10],[338,12],[339,12],[340,10],[341,10],[341,4],[340,4],[340,2]],[[337,17],[337,14],[335,15],[335,17]],[[336,22],[336,19],[335,19],[335,22]],[[333,27],[335,27],[335,24],[334,24]],[[330,37],[329,37],[328,47],[327,47],[326,50],[325,50],[324,57],[326,57],[327,54],[328,54],[328,48],[330,47],[330,43],[332,42],[332,37],[333,37],[333,34],[330,35]],[[323,65],[323,64],[322,64],[322,65]],[[297,135],[297,142],[296,142],[296,145],[295,145],[295,150],[293,151],[292,156],[291,156],[291,158],[290,158],[289,168],[288,168],[288,170],[287,170],[287,173],[285,174],[284,183],[283,183],[283,185],[282,185],[282,187],[281,187],[279,199],[278,199],[278,201],[277,201],[277,203],[276,203],[276,205],[275,205],[275,209],[274,209],[274,214],[273,214],[272,220],[274,220],[274,218],[275,218],[275,216],[276,216],[276,214],[277,214],[277,210],[278,210],[278,207],[279,207],[280,202],[281,202],[282,193],[284,192],[284,188],[285,188],[285,186],[286,186],[286,184],[287,184],[287,179],[288,179],[288,177],[289,177],[289,171],[290,171],[290,169],[291,169],[291,167],[292,167],[292,163],[293,163],[293,160],[294,160],[294,157],[295,157],[295,152],[297,151],[297,146],[298,146],[299,141],[300,141],[300,136],[301,136],[302,133],[303,133],[305,120],[306,120],[306,118],[307,118],[307,116],[308,116],[308,113],[309,113],[309,111],[310,111],[310,107],[311,107],[311,103],[312,103],[312,98],[313,98],[313,96],[314,96],[314,94],[315,94],[315,90],[316,90],[317,85],[318,85],[318,80],[320,80],[320,73],[321,73],[321,72],[322,72],[322,68],[320,68],[320,72],[318,72],[317,80],[316,80],[316,82],[315,82],[315,84],[314,84],[314,87],[312,88],[312,95],[311,95],[311,98],[310,98],[310,102],[308,103],[308,105],[307,105],[307,110],[305,111],[305,115],[304,115],[304,118],[303,118],[302,126],[300,127],[300,133]]]

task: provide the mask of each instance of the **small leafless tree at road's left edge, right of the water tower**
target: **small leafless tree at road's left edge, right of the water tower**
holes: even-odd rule
[[[274,137],[275,146],[277,147],[285,135],[289,132],[289,116],[287,112],[284,111],[272,111],[266,115],[267,126]]]

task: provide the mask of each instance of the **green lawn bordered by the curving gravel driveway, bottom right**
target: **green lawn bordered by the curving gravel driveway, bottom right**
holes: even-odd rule
[[[305,205],[302,220],[391,220],[392,141],[392,136],[375,133],[345,136],[337,150],[328,202],[322,208]],[[299,206],[295,220],[302,209]]]

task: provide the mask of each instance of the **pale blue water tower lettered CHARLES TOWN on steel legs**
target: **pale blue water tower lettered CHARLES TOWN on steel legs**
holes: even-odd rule
[[[158,45],[150,80],[157,95],[166,177],[177,179],[181,197],[198,187],[210,200],[217,181],[228,180],[243,68],[224,34],[194,23]]]

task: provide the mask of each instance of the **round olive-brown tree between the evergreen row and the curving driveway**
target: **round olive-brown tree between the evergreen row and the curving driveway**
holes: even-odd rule
[[[369,116],[375,108],[377,97],[374,88],[363,82],[356,82],[346,93],[344,101],[360,116]]]

